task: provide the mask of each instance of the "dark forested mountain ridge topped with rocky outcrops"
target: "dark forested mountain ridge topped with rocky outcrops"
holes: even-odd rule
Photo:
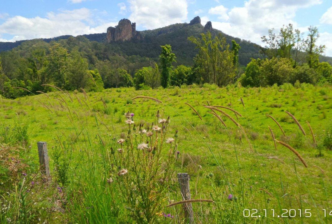
[[[83,36],[90,41],[110,44],[119,47],[119,49],[128,56],[139,55],[150,57],[155,61],[158,60],[158,54],[156,53],[158,51],[155,49],[159,48],[160,45],[170,44],[178,57],[178,63],[192,65],[192,58],[197,54],[197,51],[195,50],[194,44],[189,42],[187,38],[189,36],[199,37],[201,33],[206,33],[207,31],[211,32],[212,35],[221,33],[226,38],[226,42],[230,45],[232,39],[238,42],[241,46],[239,63],[242,65],[246,65],[250,61],[250,58],[264,58],[264,55],[261,53],[262,47],[260,45],[248,40],[232,37],[222,31],[216,30],[212,28],[211,22],[207,22],[207,24],[203,26],[199,16],[192,19],[190,23],[176,23],[162,28],[143,31],[136,31],[135,23],[131,23],[128,19],[122,19],[119,21],[118,26],[109,27],[107,33],[84,34],[76,37]],[[68,39],[69,37],[74,36],[63,35],[36,39],[50,42],[52,40]],[[0,42],[0,52],[11,50],[26,41],[30,40]],[[320,59],[332,63],[332,57],[320,55]]]

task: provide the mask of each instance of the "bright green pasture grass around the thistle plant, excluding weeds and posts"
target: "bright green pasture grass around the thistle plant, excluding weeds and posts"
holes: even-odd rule
[[[116,147],[114,139],[127,134],[125,112],[133,112],[138,125],[140,122],[155,121],[159,110],[161,117],[170,116],[169,136],[172,137],[175,130],[179,131],[177,150],[180,154],[174,164],[175,171],[189,173],[193,199],[215,201],[193,203],[196,223],[332,221],[329,215],[324,218],[323,212],[323,209],[327,213],[332,210],[332,185],[330,178],[327,178],[332,175],[329,169],[332,166],[332,152],[324,144],[324,139],[328,139],[326,132],[332,126],[331,86],[301,84],[300,88],[294,88],[285,84],[281,87],[246,89],[205,85],[203,88],[140,91],[121,88],[87,93],[87,97],[77,93],[79,101],[73,93],[70,96],[61,92],[47,95],[49,98],[41,94],[15,100],[2,99],[0,125],[2,129],[28,125],[25,135],[29,137],[31,149],[24,157],[29,157],[35,166],[38,166],[37,141],[48,143],[52,169],[56,166],[54,152],[60,151],[61,163],[68,164],[64,174],[52,170],[53,188],[63,185],[66,193],[54,196],[61,201],[63,211],[51,212],[50,220],[54,221],[57,216],[70,223],[86,223],[87,220],[89,223],[132,221],[130,209],[126,208],[122,199],[126,195],[121,193],[120,186],[106,183],[112,167],[108,153],[111,146]],[[139,95],[157,98],[162,103],[142,98],[132,100]],[[227,128],[208,113],[209,110],[202,106],[207,105],[207,101],[210,105],[230,107],[242,114],[237,118],[233,112],[224,110],[242,125],[251,148],[244,132],[226,116],[221,117]],[[202,120],[185,103],[192,105]],[[285,111],[296,117],[306,136]],[[286,137],[266,114],[281,124]],[[317,146],[312,143],[306,121],[310,122]],[[268,126],[276,139],[296,149],[308,168],[286,147],[277,144],[275,149]],[[319,151],[323,156],[318,156]],[[167,151],[164,153],[167,154]],[[323,169],[327,177],[313,166]],[[68,183],[57,181],[61,175],[67,175]],[[163,192],[166,196],[161,203],[165,205],[181,200],[176,177],[173,178],[169,192]],[[227,199],[229,194],[233,194],[233,200]],[[181,205],[165,207],[160,212],[174,214],[175,218],[161,218],[160,222],[181,222],[181,208]],[[267,209],[269,218],[244,218],[243,209],[258,209],[260,215],[264,215],[263,209]],[[271,209],[275,210],[275,217],[272,217]],[[297,214],[293,218],[278,218],[277,215],[283,213],[282,209],[295,209],[297,212],[302,209],[302,217]],[[305,209],[311,209],[311,217],[304,217]],[[5,219],[0,216],[0,220]]]

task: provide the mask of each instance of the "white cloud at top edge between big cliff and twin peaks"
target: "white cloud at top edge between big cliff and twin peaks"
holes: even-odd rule
[[[155,29],[187,20],[186,0],[129,0],[129,19],[146,29]]]

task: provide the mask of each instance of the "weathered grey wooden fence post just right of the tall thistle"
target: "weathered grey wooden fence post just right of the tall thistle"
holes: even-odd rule
[[[183,200],[190,200],[190,189],[189,189],[189,175],[187,173],[178,173],[178,181],[180,184],[181,194]],[[194,222],[194,211],[193,211],[193,205],[191,202],[184,203],[183,209],[185,212],[185,217],[187,219],[187,222],[189,220],[189,223]]]

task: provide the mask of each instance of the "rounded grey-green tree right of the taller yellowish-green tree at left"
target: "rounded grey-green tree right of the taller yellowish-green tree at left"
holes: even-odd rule
[[[77,49],[70,53],[66,70],[70,89],[84,89],[90,80],[88,75],[88,61]]]

